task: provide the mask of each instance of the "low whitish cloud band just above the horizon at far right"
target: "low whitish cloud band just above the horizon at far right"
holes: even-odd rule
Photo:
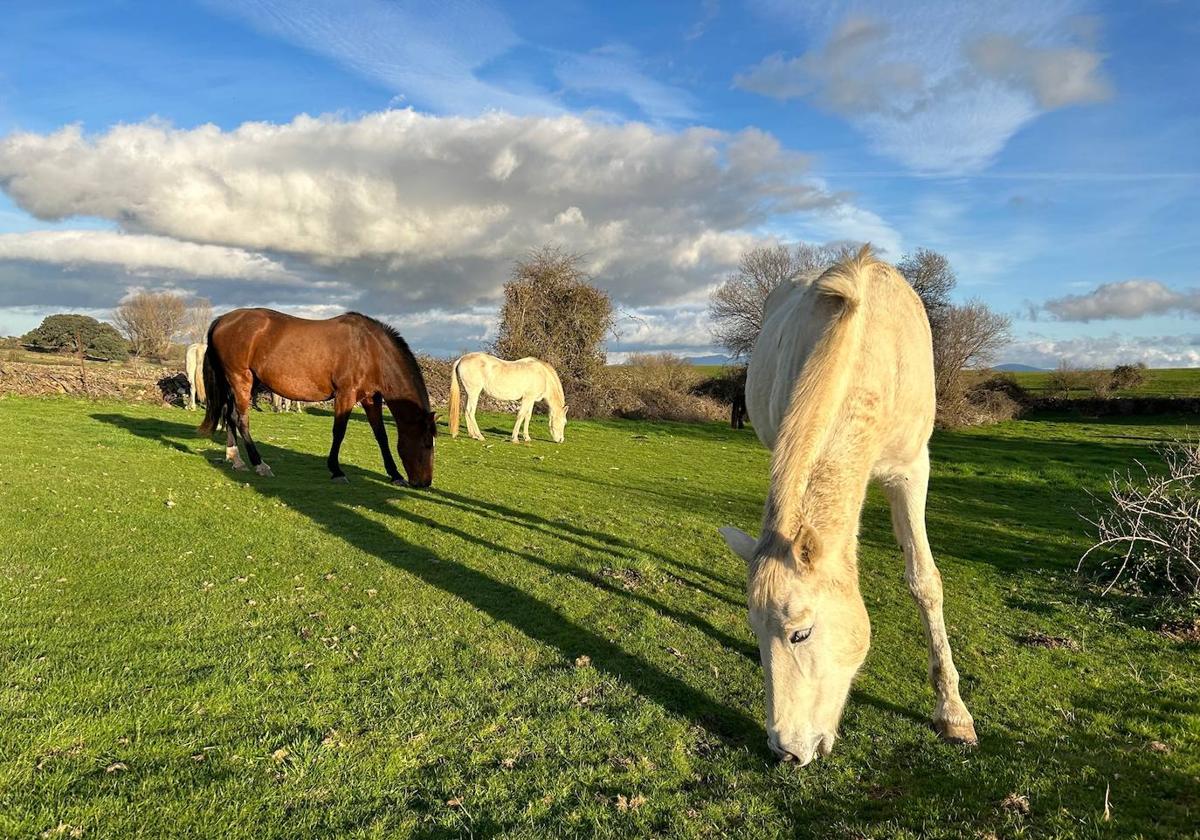
[[[1151,367],[1200,366],[1200,335],[1177,336],[1085,336],[1052,338],[1027,336],[1004,350],[1006,361],[1036,367],[1055,367],[1066,361],[1073,367],[1098,370],[1135,361]]]

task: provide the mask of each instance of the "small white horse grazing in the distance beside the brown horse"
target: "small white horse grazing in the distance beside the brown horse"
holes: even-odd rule
[[[524,439],[529,439],[529,418],[533,404],[545,400],[550,404],[550,437],[554,443],[563,443],[566,428],[566,401],[563,396],[563,383],[553,367],[540,359],[517,359],[505,361],[487,353],[468,353],[461,356],[450,371],[450,437],[458,437],[458,409],[462,397],[458,394],[458,380],[467,391],[467,433],[476,440],[484,439],[475,422],[475,406],[479,404],[480,391],[505,402],[521,401],[517,410],[517,424],[512,427],[512,443],[517,442],[517,432],[524,422]]]

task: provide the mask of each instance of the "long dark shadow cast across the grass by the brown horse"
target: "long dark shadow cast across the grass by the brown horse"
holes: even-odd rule
[[[178,422],[131,418],[121,414],[92,414],[91,416],[169,449],[184,449],[180,440],[196,439],[196,432],[191,426]],[[324,470],[324,458],[318,456],[263,444],[259,448],[270,460],[280,466],[286,464],[289,470],[295,470],[296,474],[316,475]],[[185,449],[185,451],[190,452],[191,450]],[[208,460],[206,462],[224,474],[223,467]],[[460,539],[468,539],[478,545],[496,547],[479,538],[457,529],[448,529],[443,523],[418,516],[392,504],[397,497],[402,502],[403,497],[421,491],[400,490],[382,482],[362,481],[353,485],[352,496],[343,494],[343,498],[338,498],[335,488],[330,488],[329,493],[319,494],[294,492],[288,482],[271,479],[251,480],[248,486],[264,497],[284,502],[292,510],[307,516],[323,530],[348,545],[390,563],[448,595],[458,598],[492,618],[504,622],[529,638],[557,649],[564,660],[587,653],[592,658],[594,667],[624,680],[640,695],[672,714],[692,720],[716,737],[752,744],[756,750],[766,752],[761,746],[766,734],[763,726],[744,713],[714,702],[709,696],[664,672],[652,662],[572,622],[553,605],[478,569],[446,557],[439,557],[426,546],[404,540],[371,517],[358,512],[359,509],[367,509],[376,514],[401,516],[431,529],[449,530]],[[545,562],[535,556],[510,553],[546,566]],[[554,570],[563,571],[560,568]],[[590,578],[588,582],[595,583]],[[610,592],[622,596],[630,595],[630,593],[616,588],[611,588]],[[715,629],[708,628],[708,630]],[[736,650],[745,652],[744,643],[736,640],[730,641]]]

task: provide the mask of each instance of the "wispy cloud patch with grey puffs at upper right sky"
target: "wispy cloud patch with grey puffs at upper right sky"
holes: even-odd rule
[[[814,100],[913,169],[980,169],[1040,113],[1110,96],[1094,28],[1080,25],[1075,0],[964,6],[953,14],[917,2],[761,5],[816,46],[769,55],[734,84]]]

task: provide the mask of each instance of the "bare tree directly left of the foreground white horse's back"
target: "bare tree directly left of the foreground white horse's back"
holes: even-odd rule
[[[708,299],[713,336],[734,356],[746,356],[762,331],[762,307],[780,283],[809,271],[822,271],[850,253],[847,245],[761,246],[742,254],[731,274]]]

